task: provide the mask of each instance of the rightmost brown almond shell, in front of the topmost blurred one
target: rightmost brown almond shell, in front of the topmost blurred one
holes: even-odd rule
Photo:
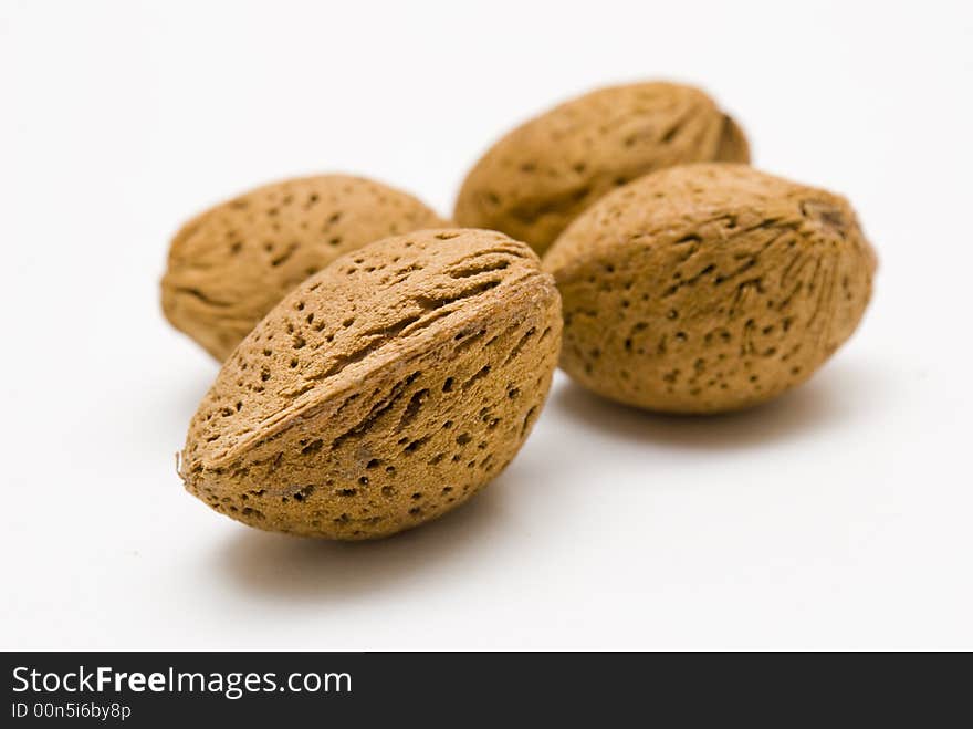
[[[607,196],[544,268],[574,379],[620,403],[715,413],[807,379],[858,325],[876,257],[844,198],[709,164]]]

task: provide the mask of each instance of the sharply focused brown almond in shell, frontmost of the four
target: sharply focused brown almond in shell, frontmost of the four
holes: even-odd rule
[[[459,506],[514,457],[561,344],[531,249],[485,230],[389,238],[289,294],[223,365],[181,476],[261,529],[367,539]]]

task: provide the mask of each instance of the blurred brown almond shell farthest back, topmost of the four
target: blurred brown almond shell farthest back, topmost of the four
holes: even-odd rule
[[[697,88],[601,88],[498,142],[467,176],[454,217],[543,253],[582,210],[636,177],[682,163],[749,160],[743,132]]]

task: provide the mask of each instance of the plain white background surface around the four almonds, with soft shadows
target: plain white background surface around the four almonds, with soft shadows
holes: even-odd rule
[[[973,20],[908,7],[2,0],[0,646],[973,648]],[[492,487],[377,543],[181,490],[217,372],[159,313],[185,218],[318,171],[448,212],[514,123],[651,77],[858,208],[876,298],[809,384],[679,419],[558,375]]]

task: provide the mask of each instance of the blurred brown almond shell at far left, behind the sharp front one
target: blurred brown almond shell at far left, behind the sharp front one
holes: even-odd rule
[[[442,225],[412,196],[358,177],[268,185],[176,235],[163,311],[222,361],[285,293],[331,261],[379,238]]]

